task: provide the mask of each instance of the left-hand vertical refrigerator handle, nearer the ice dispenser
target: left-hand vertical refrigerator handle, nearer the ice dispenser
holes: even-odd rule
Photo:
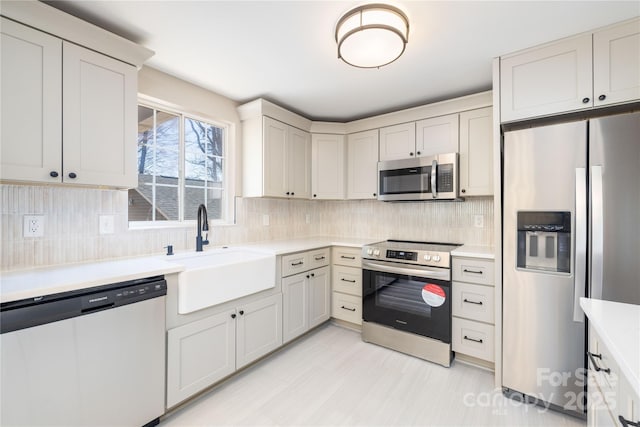
[[[573,283],[573,321],[583,322],[580,298],[585,296],[587,275],[587,171],[576,168],[576,265]]]

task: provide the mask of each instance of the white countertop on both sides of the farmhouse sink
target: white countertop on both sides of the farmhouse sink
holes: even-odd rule
[[[326,246],[362,247],[379,239],[348,237],[311,237],[230,245],[253,247],[275,255],[312,250]],[[0,273],[0,303],[69,292],[110,283],[124,282],[161,274],[179,273],[184,267],[178,258],[186,252],[176,253],[172,259],[163,255],[138,258],[64,264],[33,270]],[[206,249],[205,249],[206,253]]]

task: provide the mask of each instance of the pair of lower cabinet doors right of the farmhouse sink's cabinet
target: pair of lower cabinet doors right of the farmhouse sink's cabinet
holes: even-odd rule
[[[329,320],[331,282],[328,266],[282,279],[283,341],[299,337]]]

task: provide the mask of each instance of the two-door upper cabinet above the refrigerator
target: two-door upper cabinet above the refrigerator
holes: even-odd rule
[[[501,122],[640,99],[640,18],[500,59]]]

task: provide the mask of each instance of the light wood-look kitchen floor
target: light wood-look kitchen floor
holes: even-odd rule
[[[170,426],[584,426],[506,399],[491,372],[451,368],[362,342],[333,324],[224,382]]]

